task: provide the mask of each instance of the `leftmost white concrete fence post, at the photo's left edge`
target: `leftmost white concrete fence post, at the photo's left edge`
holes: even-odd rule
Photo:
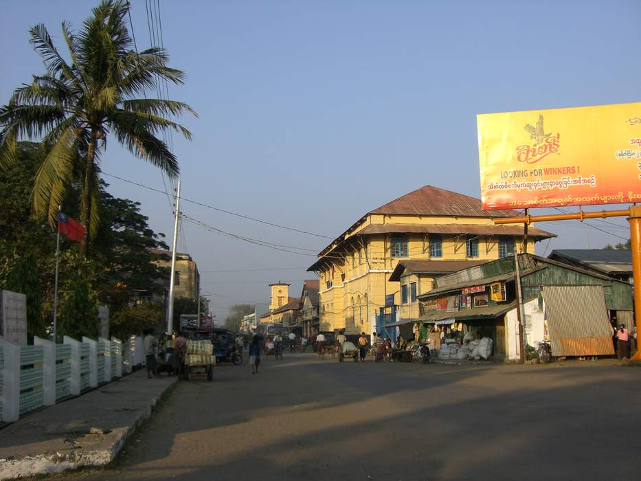
[[[0,339],[0,421],[20,417],[20,346]]]

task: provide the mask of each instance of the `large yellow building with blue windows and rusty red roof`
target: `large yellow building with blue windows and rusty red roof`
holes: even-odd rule
[[[393,295],[407,318],[418,317],[416,296],[432,288],[434,276],[403,269],[390,280],[398,262],[409,260],[458,261],[458,271],[470,262],[508,256],[522,248],[523,227],[494,225],[496,217],[516,216],[513,210],[485,211],[481,201],[457,192],[425,186],[376,208],[333,240],[308,268],[319,275],[319,329],[347,334],[376,325],[375,316]],[[529,228],[527,251],[553,234]],[[434,266],[443,271],[442,265]],[[419,280],[420,277],[420,280]],[[403,282],[401,282],[401,280]],[[404,287],[401,286],[403,284]]]

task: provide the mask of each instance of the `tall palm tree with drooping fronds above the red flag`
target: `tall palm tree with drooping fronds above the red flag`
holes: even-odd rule
[[[190,132],[168,116],[196,115],[183,102],[135,98],[145,90],[154,91],[156,82],[182,84],[185,75],[166,66],[163,49],[140,53],[133,49],[127,14],[128,2],[103,0],[79,32],[71,32],[63,22],[70,62],[58,52],[44,25],[32,27],[30,43],[46,72],[16,89],[8,104],[0,107],[0,168],[15,161],[18,139],[36,137],[47,148],[34,178],[36,216],[46,214],[53,227],[67,188],[80,181],[80,223],[87,227],[82,256],[87,255],[90,233],[97,227],[99,163],[108,135],[173,178],[179,172],[177,159],[156,135],[174,130],[191,139]]]

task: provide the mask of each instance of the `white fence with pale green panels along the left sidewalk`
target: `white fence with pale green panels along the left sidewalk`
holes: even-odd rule
[[[142,338],[63,344],[34,337],[33,346],[19,346],[0,337],[0,421],[17,421],[21,414],[54,405],[108,383],[144,363]]]

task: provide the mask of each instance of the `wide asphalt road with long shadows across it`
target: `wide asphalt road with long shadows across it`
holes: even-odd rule
[[[641,369],[221,365],[182,381],[96,480],[638,480]]]

